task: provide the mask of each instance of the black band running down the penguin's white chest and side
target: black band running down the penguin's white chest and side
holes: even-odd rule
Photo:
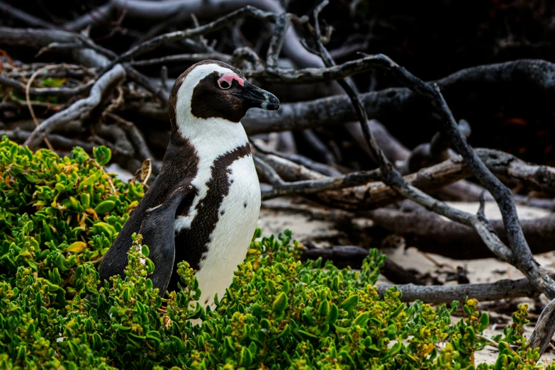
[[[175,236],[175,262],[187,261],[191,268],[198,271],[203,255],[208,252],[208,244],[211,242],[211,235],[216,223],[220,218],[220,206],[225,196],[230,191],[231,174],[230,166],[237,159],[250,155],[249,144],[242,145],[230,152],[220,155],[211,166],[211,179],[206,183],[208,191],[206,196],[196,205],[196,216],[191,221],[191,227],[181,230]],[[192,199],[191,199],[192,202]],[[190,208],[189,207],[187,209]],[[174,267],[176,271],[176,266]],[[172,274],[169,281],[168,290],[177,288],[179,276]]]

